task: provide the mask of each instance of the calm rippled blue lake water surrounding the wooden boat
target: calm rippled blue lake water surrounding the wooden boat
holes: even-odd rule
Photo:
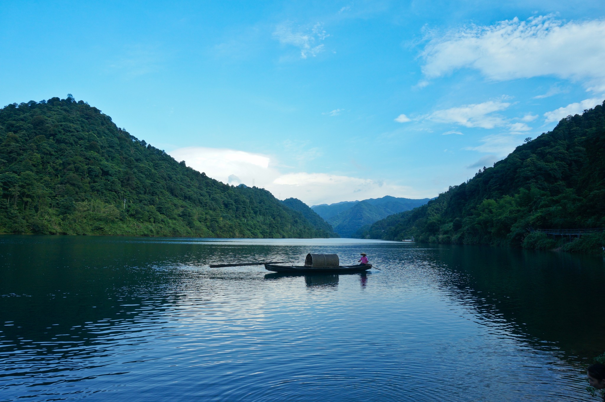
[[[262,266],[359,252],[382,271]],[[355,239],[0,236],[0,401],[597,401],[601,256]]]

